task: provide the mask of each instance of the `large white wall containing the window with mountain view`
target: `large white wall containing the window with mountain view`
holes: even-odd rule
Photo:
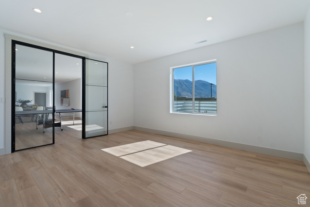
[[[136,64],[134,126],[303,153],[303,56],[299,23]],[[169,68],[212,59],[217,116],[169,113]]]

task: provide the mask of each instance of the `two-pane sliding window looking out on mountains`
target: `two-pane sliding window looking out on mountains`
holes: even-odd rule
[[[216,115],[216,60],[170,68],[171,113]]]

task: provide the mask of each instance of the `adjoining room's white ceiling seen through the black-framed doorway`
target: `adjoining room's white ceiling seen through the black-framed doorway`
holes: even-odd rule
[[[16,45],[15,78],[20,85],[50,86],[53,82],[53,53]],[[55,53],[55,84],[82,78],[82,59]],[[28,81],[26,81],[28,80]]]

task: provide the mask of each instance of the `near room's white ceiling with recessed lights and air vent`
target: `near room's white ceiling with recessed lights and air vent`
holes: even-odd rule
[[[135,64],[302,22],[309,5],[310,0],[3,0],[0,27]],[[206,21],[208,16],[214,19]]]

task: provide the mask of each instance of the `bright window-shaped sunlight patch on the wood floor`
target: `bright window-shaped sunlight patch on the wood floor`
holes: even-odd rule
[[[119,158],[127,160],[133,164],[139,165],[140,167],[145,167],[150,164],[191,152],[191,150],[186,150],[159,142],[153,142],[150,140],[101,150],[118,156]]]

